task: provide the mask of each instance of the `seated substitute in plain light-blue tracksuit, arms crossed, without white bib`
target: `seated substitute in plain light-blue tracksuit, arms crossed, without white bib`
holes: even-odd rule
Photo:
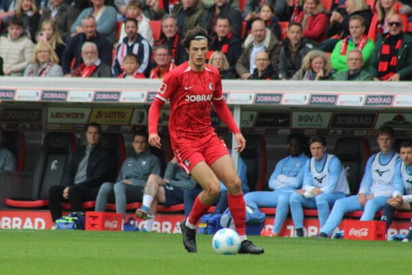
[[[269,179],[269,188],[273,191],[249,192],[244,195],[247,206],[253,208],[276,208],[273,230],[262,230],[261,236],[277,236],[289,212],[289,198],[304,179],[304,165],[308,161],[304,153],[306,137],[301,133],[291,133],[288,136],[288,151],[290,155],[277,162],[276,168]]]

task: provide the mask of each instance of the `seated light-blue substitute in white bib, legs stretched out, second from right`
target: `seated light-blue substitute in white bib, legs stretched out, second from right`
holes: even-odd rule
[[[395,167],[400,162],[398,153],[392,149],[393,140],[393,129],[381,126],[377,139],[380,152],[367,160],[365,175],[363,175],[358,195],[336,201],[328,221],[321,226],[320,237],[330,236],[345,213],[363,210],[361,221],[371,221],[374,219],[375,213],[385,206],[389,197],[402,195],[402,184],[400,182],[398,182],[399,186],[393,184]]]

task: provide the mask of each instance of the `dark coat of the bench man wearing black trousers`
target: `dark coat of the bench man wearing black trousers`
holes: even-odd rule
[[[74,152],[66,167],[65,175],[63,175],[63,185],[74,185],[73,180],[76,177],[78,166],[84,155],[86,155],[86,146],[81,146]],[[110,166],[110,151],[100,145],[95,146],[90,153],[89,162],[87,163],[87,180],[76,185],[88,186],[98,191],[100,186],[109,179],[110,169],[113,169]]]

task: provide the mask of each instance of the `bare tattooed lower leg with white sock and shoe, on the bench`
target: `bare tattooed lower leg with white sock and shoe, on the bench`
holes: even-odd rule
[[[146,186],[144,186],[143,202],[141,203],[141,208],[136,210],[136,216],[139,219],[153,219],[152,213],[150,212],[150,205],[153,199],[157,197],[157,192],[159,186],[164,186],[165,181],[159,175],[151,174],[148,177]]]

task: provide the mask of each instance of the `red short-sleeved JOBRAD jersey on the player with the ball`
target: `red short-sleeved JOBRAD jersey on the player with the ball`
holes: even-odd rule
[[[165,76],[156,98],[163,103],[170,101],[170,137],[179,142],[201,142],[214,133],[211,102],[225,104],[218,70],[205,64],[203,72],[194,72],[187,62]],[[229,115],[231,117],[230,112]],[[237,127],[231,130],[238,132]]]

